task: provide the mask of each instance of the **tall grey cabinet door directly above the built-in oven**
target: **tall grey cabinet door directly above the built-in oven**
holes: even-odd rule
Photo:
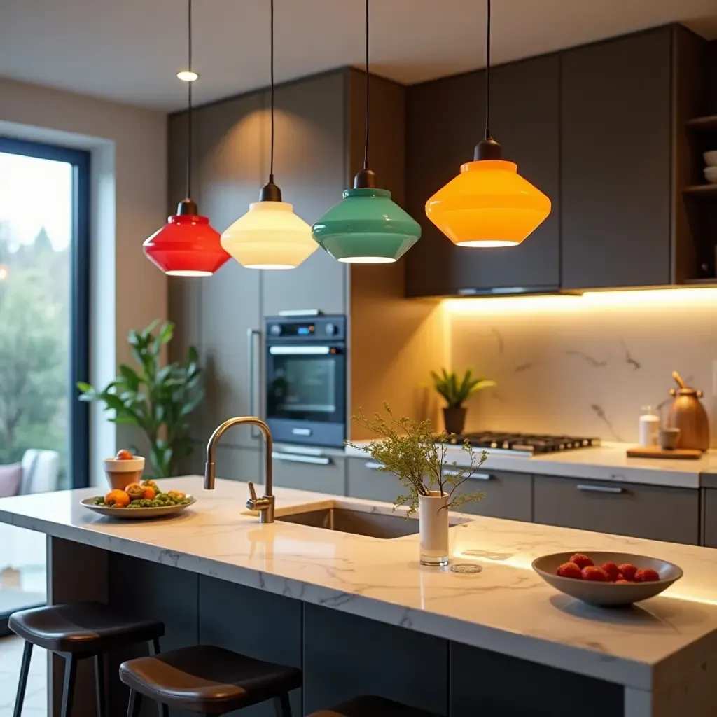
[[[282,199],[308,224],[341,199],[346,174],[345,82],[345,72],[332,72],[282,85],[275,92],[275,181]],[[265,103],[268,106],[268,93]],[[268,123],[265,147],[268,176]],[[275,316],[282,309],[346,313],[347,271],[345,264],[318,248],[296,269],[263,272],[264,315]]]

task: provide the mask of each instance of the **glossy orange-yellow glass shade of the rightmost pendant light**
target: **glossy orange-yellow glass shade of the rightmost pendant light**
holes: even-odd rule
[[[514,162],[467,162],[426,202],[427,217],[459,247],[512,247],[550,214],[545,194]]]

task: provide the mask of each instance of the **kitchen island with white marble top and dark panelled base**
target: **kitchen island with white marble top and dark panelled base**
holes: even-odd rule
[[[386,504],[277,488],[277,522],[260,525],[244,483],[168,483],[199,500],[163,521],[90,513],[80,500],[91,488],[4,498],[0,521],[49,536],[51,602],[100,599],[163,619],[165,649],[212,642],[302,667],[297,714],[359,692],[452,717],[717,714],[711,549],[466,516],[451,529],[452,561],[483,570],[456,574],[419,566],[417,535],[281,520],[298,506]],[[630,609],[593,608],[531,570],[534,557],[572,549],[655,556],[685,576]],[[78,701],[77,715],[93,713],[91,698]]]

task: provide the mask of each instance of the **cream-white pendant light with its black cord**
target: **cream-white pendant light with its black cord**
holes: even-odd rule
[[[271,161],[269,181],[259,201],[239,217],[224,234],[222,247],[247,269],[294,269],[318,249],[311,227],[281,201],[274,184],[274,0],[270,2],[271,25]]]

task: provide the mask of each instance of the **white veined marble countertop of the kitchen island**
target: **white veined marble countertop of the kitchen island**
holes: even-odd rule
[[[247,486],[174,478],[197,496],[164,521],[112,521],[80,500],[97,489],[0,499],[0,522],[122,552],[445,637],[534,663],[642,689],[670,685],[717,653],[717,552],[695,546],[470,517],[452,528],[452,560],[483,566],[455,574],[418,563],[418,536],[386,541],[282,523],[247,513]],[[277,516],[296,506],[385,503],[277,488]],[[630,609],[598,609],[545,584],[536,556],[614,550],[659,557],[685,576]]]

